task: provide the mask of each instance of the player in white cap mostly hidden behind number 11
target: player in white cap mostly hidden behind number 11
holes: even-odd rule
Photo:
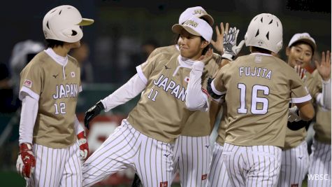
[[[179,24],[185,22],[185,19],[192,15],[206,20],[211,26],[213,25],[213,18],[201,6],[187,8],[180,15]],[[222,34],[224,33],[223,29],[222,25]],[[219,32],[219,29],[217,32]],[[180,43],[180,37],[177,42]],[[211,43],[213,46],[217,46],[220,44],[220,41],[211,41]],[[148,59],[160,53],[180,54],[180,48],[178,44],[157,48],[150,54]],[[214,53],[212,60],[205,66],[204,76],[212,77],[218,69],[217,62],[220,60],[221,56]],[[206,85],[204,87],[206,88]],[[212,126],[209,125],[208,113],[195,111],[189,116],[180,137],[175,140],[173,176],[179,169],[181,186],[205,186],[209,171],[208,162],[210,162],[209,135],[211,130]],[[136,177],[136,179],[139,178]]]

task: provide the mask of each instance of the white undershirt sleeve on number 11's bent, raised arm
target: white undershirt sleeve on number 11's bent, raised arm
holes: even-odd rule
[[[187,86],[186,106],[190,111],[208,110],[208,95],[202,91],[203,62],[194,62]]]

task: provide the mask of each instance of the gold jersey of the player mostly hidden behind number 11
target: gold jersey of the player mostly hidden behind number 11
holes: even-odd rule
[[[152,51],[147,60],[160,53],[168,56],[180,55],[180,50],[178,49],[178,46],[175,45],[157,48],[154,51]],[[205,65],[202,75],[203,80],[205,80],[202,81],[203,88],[206,89],[207,85],[206,78],[213,77],[217,72],[219,68],[218,64],[220,63],[220,61],[221,61],[221,56],[214,53],[212,60],[210,60],[207,65]],[[213,129],[213,127],[211,127],[211,125],[208,124],[210,124],[210,117],[208,112],[194,111],[194,113],[192,113],[192,115],[189,116],[181,134],[189,137],[208,136],[210,135]]]

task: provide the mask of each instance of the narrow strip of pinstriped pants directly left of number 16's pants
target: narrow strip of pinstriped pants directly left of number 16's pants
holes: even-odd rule
[[[229,175],[226,171],[226,165],[224,158],[222,157],[223,146],[215,142],[215,148],[213,148],[212,160],[210,163],[210,174],[208,175],[208,186],[211,187],[228,187]]]

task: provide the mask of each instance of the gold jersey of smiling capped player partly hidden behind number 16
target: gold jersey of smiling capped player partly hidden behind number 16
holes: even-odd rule
[[[315,78],[308,71],[305,72],[305,75],[307,76],[305,81],[306,88],[308,89],[311,97],[314,98],[318,92],[318,89],[316,88],[317,83]],[[314,99],[312,99],[312,101],[314,101]],[[284,150],[298,146],[305,140],[306,136],[307,130],[305,130],[304,127],[299,130],[290,130],[287,128],[286,137],[284,139]]]

